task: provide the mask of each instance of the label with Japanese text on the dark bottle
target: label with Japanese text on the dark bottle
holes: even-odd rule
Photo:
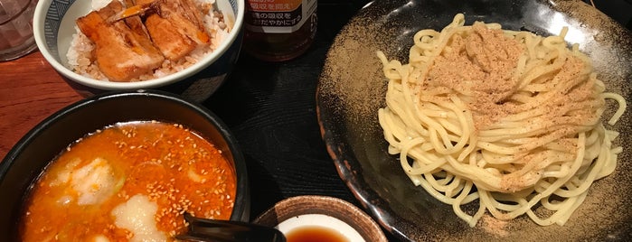
[[[316,12],[316,0],[247,0],[246,28],[257,33],[293,33]]]

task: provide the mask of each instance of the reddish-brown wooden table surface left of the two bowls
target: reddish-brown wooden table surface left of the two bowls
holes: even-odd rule
[[[0,157],[44,118],[81,98],[39,51],[0,62]]]

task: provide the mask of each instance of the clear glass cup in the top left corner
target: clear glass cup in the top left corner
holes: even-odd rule
[[[33,51],[33,11],[38,0],[0,0],[0,61]]]

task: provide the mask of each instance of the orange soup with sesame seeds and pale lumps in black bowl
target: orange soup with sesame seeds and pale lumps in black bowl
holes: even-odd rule
[[[231,163],[180,125],[127,122],[86,135],[33,185],[24,241],[172,241],[184,212],[230,219]]]

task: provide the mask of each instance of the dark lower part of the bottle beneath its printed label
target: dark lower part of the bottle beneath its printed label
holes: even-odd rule
[[[263,61],[288,61],[305,51],[314,41],[316,12],[294,33],[256,33],[244,31],[244,51]]]

